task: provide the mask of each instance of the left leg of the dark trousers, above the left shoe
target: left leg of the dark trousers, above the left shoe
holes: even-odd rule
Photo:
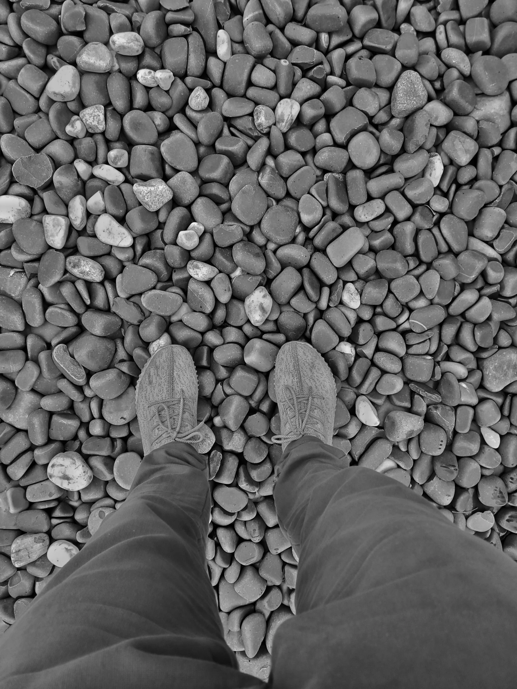
[[[205,544],[206,460],[147,455],[125,503],[0,639],[1,689],[265,686],[224,641]]]

